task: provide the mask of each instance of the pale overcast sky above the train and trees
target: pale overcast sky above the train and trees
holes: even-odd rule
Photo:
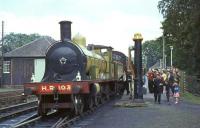
[[[59,1],[59,3],[58,3]],[[127,54],[132,37],[161,36],[159,0],[0,0],[5,33],[39,33],[60,40],[61,20],[72,21],[72,36],[80,33],[87,44],[112,46]],[[143,42],[144,42],[143,41]]]

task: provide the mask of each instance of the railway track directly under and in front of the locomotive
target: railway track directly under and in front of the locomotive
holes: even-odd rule
[[[108,102],[105,102],[104,104],[107,104]],[[29,120],[13,126],[13,128],[68,128],[75,125],[77,121],[80,121],[86,116],[92,114],[104,104],[100,104],[78,116],[69,117],[66,114],[64,115],[63,113],[61,114],[56,111],[49,113],[45,117],[35,116],[34,118],[30,118]]]

